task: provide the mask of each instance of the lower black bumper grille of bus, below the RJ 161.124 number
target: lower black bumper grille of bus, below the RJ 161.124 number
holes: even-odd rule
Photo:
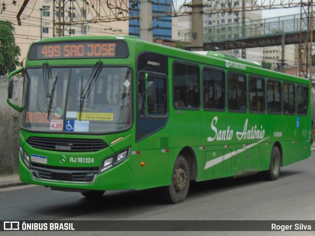
[[[71,182],[93,182],[98,173],[98,168],[54,168],[45,165],[31,166],[35,178],[48,180],[62,180]]]

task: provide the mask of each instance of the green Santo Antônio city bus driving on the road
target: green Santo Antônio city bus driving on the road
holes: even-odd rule
[[[132,36],[33,42],[7,102],[21,112],[21,181],[85,197],[160,187],[180,203],[191,180],[276,180],[311,155],[309,80]]]

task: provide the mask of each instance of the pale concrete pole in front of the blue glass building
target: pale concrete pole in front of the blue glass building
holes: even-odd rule
[[[140,0],[140,38],[153,42],[152,0]]]

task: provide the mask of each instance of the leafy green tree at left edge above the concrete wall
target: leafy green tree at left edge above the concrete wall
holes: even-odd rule
[[[21,49],[15,44],[11,22],[0,21],[0,75],[8,75],[20,66]]]

